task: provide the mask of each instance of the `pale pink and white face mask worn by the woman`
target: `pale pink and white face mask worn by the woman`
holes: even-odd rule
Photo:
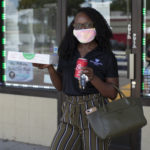
[[[73,30],[73,35],[77,38],[80,43],[89,43],[95,39],[96,30],[95,28]]]

